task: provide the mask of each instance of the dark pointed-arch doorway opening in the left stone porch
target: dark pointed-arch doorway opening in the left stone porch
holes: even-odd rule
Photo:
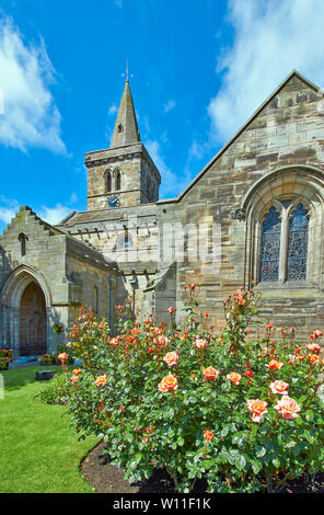
[[[20,355],[45,354],[46,301],[45,295],[34,281],[22,293],[20,302]]]

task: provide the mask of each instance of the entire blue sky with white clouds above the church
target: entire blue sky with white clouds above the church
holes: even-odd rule
[[[176,197],[297,69],[324,87],[323,0],[0,0],[0,231],[86,209],[126,61],[141,141]]]

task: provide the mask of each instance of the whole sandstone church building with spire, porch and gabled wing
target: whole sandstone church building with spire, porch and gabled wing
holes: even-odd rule
[[[85,154],[86,210],[54,227],[23,206],[0,236],[0,347],[54,352],[81,305],[114,328],[127,297],[139,321],[171,306],[180,320],[188,283],[216,328],[222,301],[253,286],[265,323],[300,341],[323,329],[323,96],[293,70],[185,191],[159,199],[126,80],[109,148]]]

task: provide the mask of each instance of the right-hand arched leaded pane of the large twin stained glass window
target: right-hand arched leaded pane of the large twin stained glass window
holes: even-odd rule
[[[288,233],[288,281],[306,279],[309,217],[302,204],[291,213]]]

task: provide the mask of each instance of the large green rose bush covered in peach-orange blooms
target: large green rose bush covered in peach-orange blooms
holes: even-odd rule
[[[278,492],[288,479],[324,470],[324,362],[320,330],[294,343],[294,328],[270,322],[263,336],[259,296],[224,301],[220,335],[199,313],[199,287],[185,289],[185,320],[106,322],[82,309],[69,347],[82,365],[69,374],[69,410],[82,434],[107,443],[130,481],[165,467],[181,492],[206,478],[210,492]],[[258,337],[254,337],[255,334]]]

